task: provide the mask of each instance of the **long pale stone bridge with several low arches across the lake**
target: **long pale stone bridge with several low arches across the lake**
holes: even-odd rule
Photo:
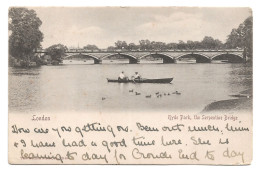
[[[181,58],[195,58],[196,63],[210,63],[223,57],[231,63],[245,62],[243,50],[189,50],[189,51],[67,51],[65,59],[81,57],[92,58],[95,64],[101,64],[106,58],[121,56],[129,59],[130,64],[137,64],[145,57],[162,58],[163,63],[176,63]]]

